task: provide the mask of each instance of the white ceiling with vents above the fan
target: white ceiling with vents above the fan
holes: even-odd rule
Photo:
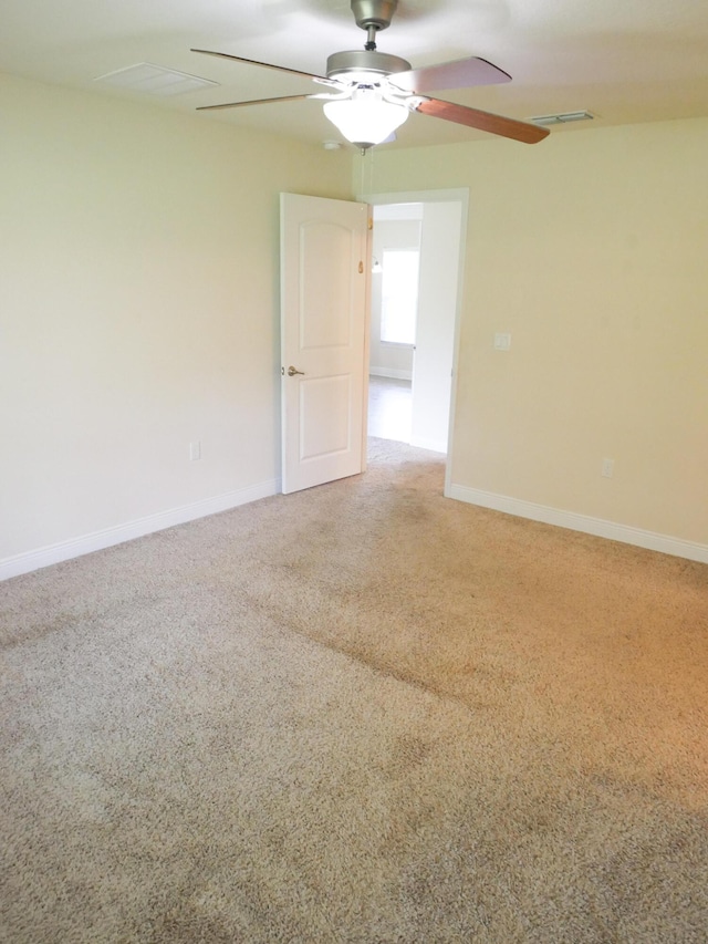
[[[348,0],[2,0],[0,70],[192,112],[198,105],[320,90],[294,75],[190,48],[321,75],[330,53],[362,49],[365,40]],[[510,117],[587,110],[600,126],[708,116],[706,0],[399,0],[377,43],[414,68],[468,55],[493,62],[513,81],[435,94]],[[218,84],[157,97],[95,81],[145,62]],[[201,112],[199,120],[314,143],[342,141],[316,101]],[[576,127],[587,124],[552,134]],[[412,115],[397,141],[383,146],[482,137]]]

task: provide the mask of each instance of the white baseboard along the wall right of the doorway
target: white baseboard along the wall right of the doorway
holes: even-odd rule
[[[622,541],[625,544],[635,544],[650,551],[708,563],[707,544],[684,541],[680,538],[657,535],[654,531],[644,531],[628,525],[616,525],[614,521],[603,521],[602,518],[591,518],[586,515],[576,515],[573,511],[560,511],[558,508],[535,505],[532,501],[521,501],[518,498],[508,498],[504,495],[468,488],[464,485],[450,485],[446,495],[448,498],[456,498],[458,501],[466,501],[468,505],[480,505],[482,508],[504,511],[507,515],[516,515],[519,518],[530,518],[532,521],[543,521],[545,525],[556,525],[559,528],[569,528],[572,531],[595,535],[611,541]]]

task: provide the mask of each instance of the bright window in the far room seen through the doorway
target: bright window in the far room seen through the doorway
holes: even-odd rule
[[[417,249],[384,249],[381,299],[381,340],[416,343],[418,312]]]

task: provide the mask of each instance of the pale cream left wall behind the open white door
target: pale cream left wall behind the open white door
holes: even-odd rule
[[[9,76],[0,102],[0,562],[274,487],[278,194],[350,197],[348,153]]]

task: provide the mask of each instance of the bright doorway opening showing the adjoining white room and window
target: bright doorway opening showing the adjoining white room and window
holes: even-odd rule
[[[449,452],[467,190],[373,195],[368,432]],[[415,292],[412,257],[418,256]],[[405,263],[405,264],[404,264]],[[408,266],[400,302],[389,298]],[[388,277],[387,277],[388,276]],[[404,276],[405,281],[405,276]],[[415,305],[413,333],[409,311]]]

